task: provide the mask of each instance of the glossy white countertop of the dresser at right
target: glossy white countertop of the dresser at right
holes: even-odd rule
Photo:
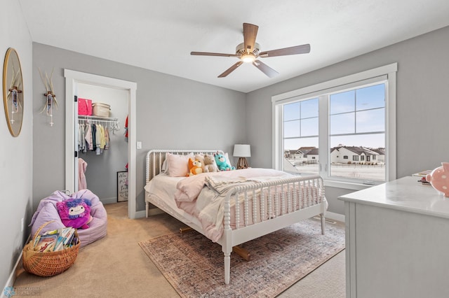
[[[401,211],[449,218],[449,198],[431,185],[417,182],[419,177],[404,177],[388,183],[351,192],[342,201],[379,206]]]

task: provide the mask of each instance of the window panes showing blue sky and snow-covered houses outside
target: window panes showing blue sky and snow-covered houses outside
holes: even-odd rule
[[[328,155],[328,177],[384,181],[385,94],[377,83],[284,104],[284,170],[320,173]]]

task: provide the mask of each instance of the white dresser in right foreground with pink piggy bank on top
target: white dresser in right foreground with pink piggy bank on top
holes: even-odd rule
[[[449,297],[449,198],[418,179],[339,198],[347,297]]]

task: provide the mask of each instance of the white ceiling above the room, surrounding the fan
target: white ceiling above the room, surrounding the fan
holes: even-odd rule
[[[448,0],[19,0],[32,41],[250,92],[449,25]],[[235,57],[242,24],[260,50],[309,43],[309,54],[261,58],[268,78]]]

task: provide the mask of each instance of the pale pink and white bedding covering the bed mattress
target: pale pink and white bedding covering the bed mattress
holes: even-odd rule
[[[160,174],[145,186],[145,190],[147,190],[147,195],[152,196],[153,200],[159,201],[159,204],[163,204],[164,206],[169,206],[170,212],[177,213],[182,218],[196,222],[196,225],[202,227],[203,234],[216,242],[220,239],[223,232],[224,201],[226,191],[229,188],[235,187],[237,184],[245,185],[248,183],[259,183],[292,177],[294,176],[291,174],[273,169],[244,169],[218,173],[203,173],[189,178],[175,178],[168,177],[166,174]],[[204,187],[205,185],[208,187]],[[266,190],[264,192],[267,195]],[[309,188],[307,187],[302,187],[301,190],[298,189],[298,197],[301,197],[302,201],[298,200],[296,206],[289,206],[288,208],[295,208],[295,210],[302,208],[305,204],[304,198],[307,198],[307,192],[309,192]],[[248,197],[250,200],[248,212],[246,213],[248,216],[246,218],[243,212],[243,194],[239,197],[240,213],[238,222],[240,226],[253,224],[253,207],[257,209],[256,213],[260,214],[260,205],[253,206],[253,201],[251,200],[252,194],[249,194]],[[318,198],[319,196],[316,197]],[[318,204],[320,201],[311,203]],[[276,217],[281,214],[280,202],[278,201],[277,203],[277,207],[279,208],[276,214],[273,212],[274,203],[272,204],[272,213],[265,210],[264,214],[261,215],[263,216],[262,220],[266,220],[269,216]],[[265,198],[264,206],[267,205],[268,201]],[[231,224],[234,229],[236,227],[236,208],[234,201],[231,201],[231,208]],[[170,214],[174,216],[173,213]]]

